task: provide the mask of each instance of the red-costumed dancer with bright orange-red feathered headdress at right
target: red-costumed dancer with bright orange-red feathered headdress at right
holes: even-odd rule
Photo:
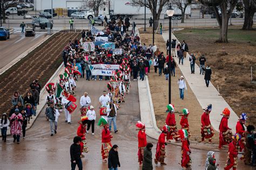
[[[232,131],[231,128],[228,127],[228,118],[230,118],[230,110],[228,108],[225,108],[223,111],[223,118],[220,121],[219,126],[219,149],[223,145],[229,144],[232,141]]]

